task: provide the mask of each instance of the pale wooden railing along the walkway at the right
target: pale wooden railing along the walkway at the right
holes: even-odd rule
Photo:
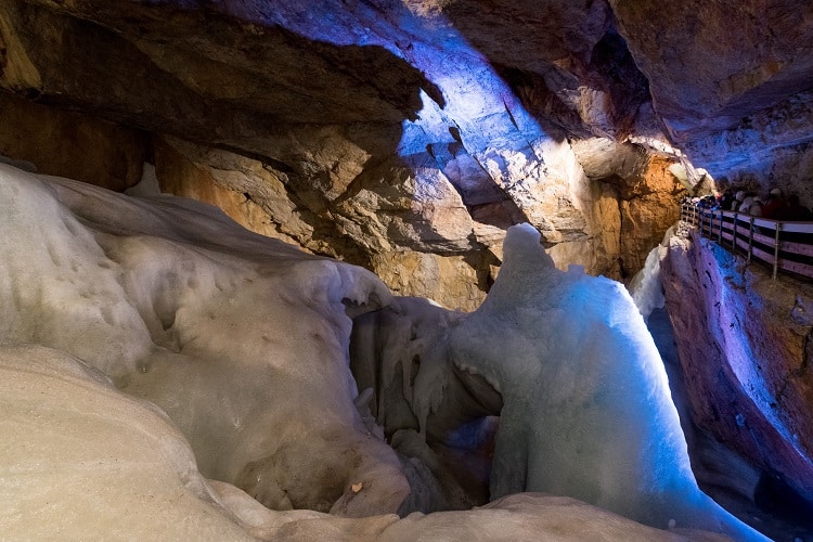
[[[783,222],[688,203],[681,208],[681,220],[748,263],[771,266],[773,279],[785,272],[813,280],[813,222]]]

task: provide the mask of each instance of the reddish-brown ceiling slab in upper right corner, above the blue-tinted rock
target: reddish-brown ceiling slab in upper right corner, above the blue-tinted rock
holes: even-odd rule
[[[619,30],[649,79],[656,108],[673,137],[730,128],[808,90],[813,54],[810,5],[779,0],[681,2],[609,0]],[[668,30],[668,31],[667,31]],[[759,44],[743,54],[743,43]]]

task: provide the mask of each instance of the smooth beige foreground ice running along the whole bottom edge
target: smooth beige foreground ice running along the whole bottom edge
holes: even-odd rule
[[[203,478],[183,436],[154,405],[40,346],[0,346],[0,532],[8,540],[680,540],[532,494],[402,520],[270,511]]]

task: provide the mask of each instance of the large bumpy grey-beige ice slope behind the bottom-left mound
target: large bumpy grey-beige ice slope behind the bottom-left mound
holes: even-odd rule
[[[205,476],[268,506],[398,509],[406,479],[347,359],[344,302],[390,298],[372,273],[191,201],[40,179],[0,165],[1,341],[70,353],[159,405]]]

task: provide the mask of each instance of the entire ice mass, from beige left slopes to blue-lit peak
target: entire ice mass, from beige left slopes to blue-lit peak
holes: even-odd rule
[[[629,296],[556,271],[527,227],[509,231],[500,279],[467,315],[393,300],[371,273],[212,207],[2,164],[0,225],[4,535],[673,539],[611,512],[752,534],[694,485]],[[362,377],[353,364],[363,388],[398,382],[402,400],[358,393],[348,314],[393,327],[389,341],[353,347],[389,365]],[[416,373],[399,365],[405,354],[421,359]],[[360,413],[367,404],[404,427],[390,437],[411,459]],[[481,440],[461,428],[493,411],[492,498],[505,496],[392,514],[436,499],[433,477],[443,485],[422,438]]]

